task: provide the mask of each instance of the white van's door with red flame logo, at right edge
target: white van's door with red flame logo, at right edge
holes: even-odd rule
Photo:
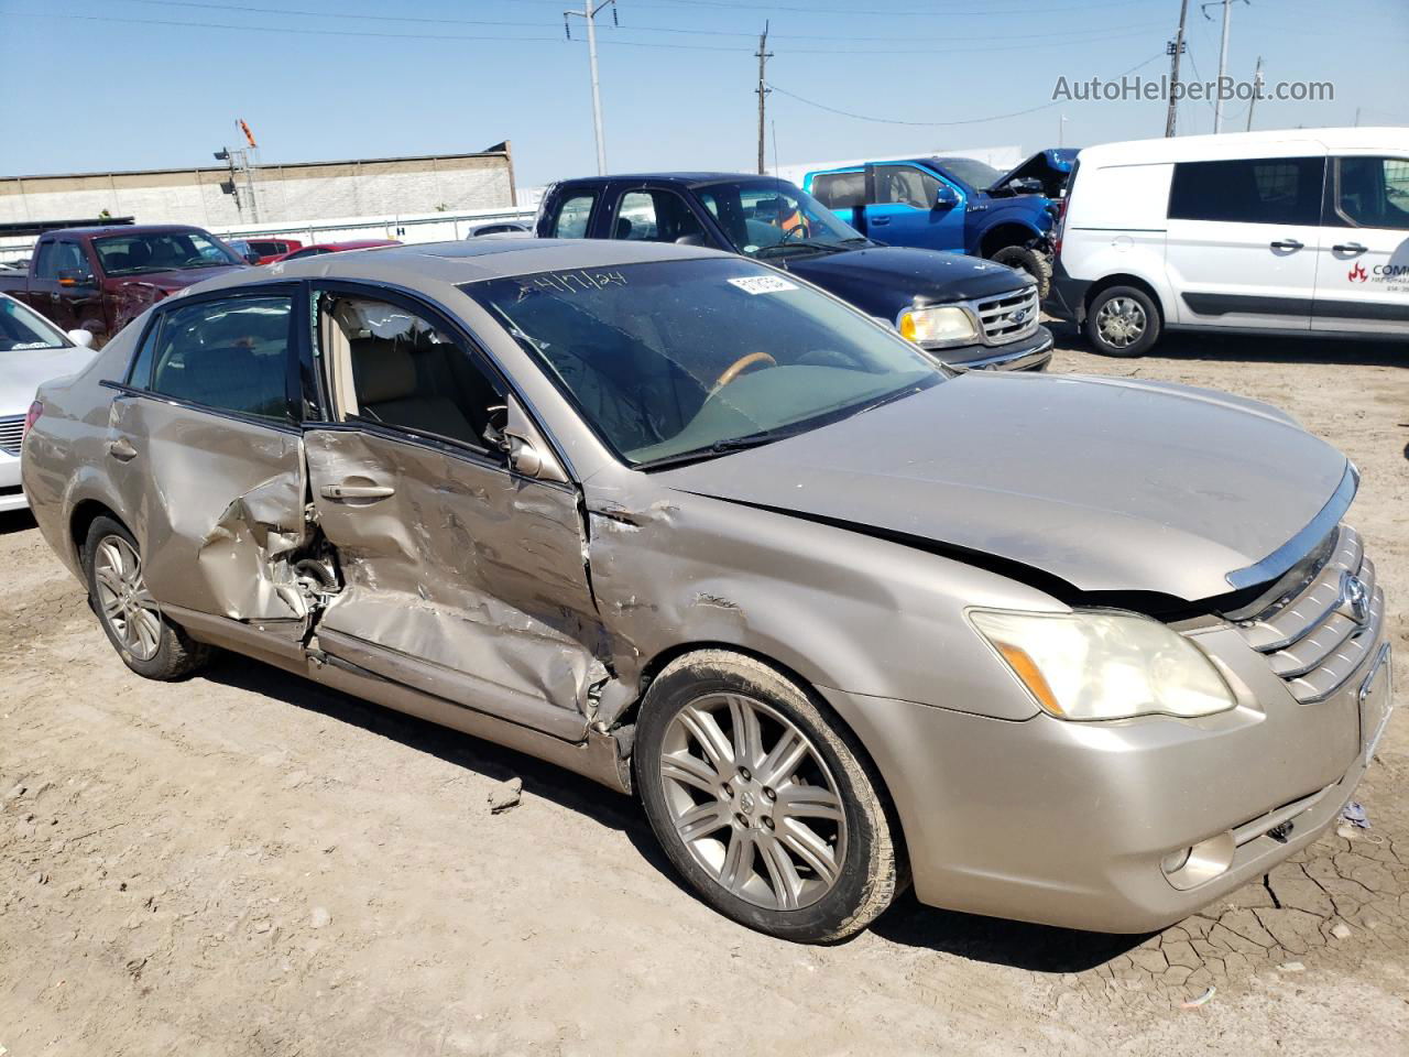
[[[1409,152],[1332,158],[1312,330],[1409,334]]]

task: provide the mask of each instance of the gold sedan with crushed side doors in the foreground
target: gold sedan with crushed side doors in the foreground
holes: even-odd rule
[[[775,936],[1134,932],[1329,826],[1389,717],[1344,457],[1275,409],[955,375],[685,245],[238,272],[28,416],[124,662],[231,650],[641,796]]]

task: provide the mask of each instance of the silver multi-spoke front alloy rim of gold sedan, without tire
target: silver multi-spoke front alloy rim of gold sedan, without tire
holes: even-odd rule
[[[661,778],[681,841],[731,895],[795,910],[837,884],[847,851],[837,782],[776,709],[741,693],[696,698],[665,730]]]

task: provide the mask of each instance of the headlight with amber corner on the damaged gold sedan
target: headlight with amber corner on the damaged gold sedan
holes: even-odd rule
[[[1044,710],[1058,719],[1208,716],[1233,691],[1188,638],[1129,613],[969,613]]]

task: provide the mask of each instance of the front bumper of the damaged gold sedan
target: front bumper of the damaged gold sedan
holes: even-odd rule
[[[1384,730],[1379,720],[1363,730],[1368,684],[1388,719],[1382,640],[1375,660],[1317,705],[1296,703],[1236,630],[1202,641],[1241,681],[1248,703],[1198,720],[1068,723],[1043,713],[1009,722],[820,689],[886,781],[921,902],[1153,932],[1316,840]],[[1289,830],[1278,829],[1288,822]],[[1161,861],[1229,830],[1237,850],[1226,872],[1174,888]]]

